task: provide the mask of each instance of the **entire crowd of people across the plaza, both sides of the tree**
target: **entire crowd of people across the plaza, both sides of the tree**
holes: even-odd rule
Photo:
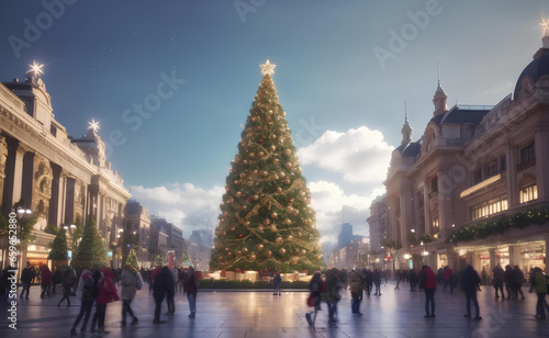
[[[490,277],[489,277],[490,274]],[[9,281],[13,277],[11,267],[2,271],[0,279],[0,294],[2,301],[7,302]],[[491,279],[490,279],[491,278]],[[306,313],[305,318],[309,325],[314,326],[315,320],[321,311],[321,304],[324,302],[327,306],[328,323],[338,322],[338,303],[341,300],[341,291],[350,290],[350,309],[351,313],[360,316],[360,304],[363,297],[381,296],[381,285],[395,281],[395,290],[400,290],[402,282],[410,284],[410,291],[415,292],[422,290],[425,293],[425,317],[436,317],[435,293],[437,288],[442,291],[453,293],[455,290],[460,290],[466,298],[466,318],[481,320],[479,302],[477,292],[481,285],[492,285],[495,290],[495,297],[502,300],[522,300],[525,298],[523,285],[529,282],[529,292],[536,292],[538,301],[536,304],[536,317],[538,319],[546,318],[546,309],[549,312],[549,304],[546,301],[549,279],[546,278],[540,268],[534,268],[529,272],[529,279],[526,281],[525,274],[515,266],[509,264],[502,268],[497,264],[491,273],[483,269],[479,274],[472,266],[467,266],[462,271],[455,272],[450,267],[440,267],[437,272],[428,266],[423,266],[422,269],[396,269],[393,272],[381,269],[345,269],[336,268],[328,269],[323,274],[320,271],[314,272],[309,283],[310,296],[307,304],[313,307],[313,311]],[[131,325],[137,325],[138,318],[132,309],[132,301],[138,290],[143,289],[145,282],[149,285],[149,294],[155,300],[154,324],[165,324],[166,320],[160,318],[161,304],[164,300],[167,303],[167,316],[172,316],[176,312],[175,295],[183,293],[189,302],[189,317],[193,318],[197,313],[197,293],[199,289],[199,280],[194,269],[189,267],[188,270],[176,270],[168,267],[156,267],[153,270],[135,270],[131,266],[124,269],[112,270],[105,268],[103,270],[87,269],[77,278],[76,271],[68,266],[60,266],[49,271],[47,266],[41,267],[36,272],[30,264],[23,269],[21,273],[22,291],[21,298],[29,298],[29,291],[33,281],[38,281],[41,285],[41,298],[49,297],[56,293],[55,285],[60,284],[63,288],[63,297],[57,303],[60,306],[64,301],[67,306],[70,306],[70,297],[76,296],[77,292],[81,294],[80,312],[70,329],[71,335],[77,335],[77,327],[83,318],[80,331],[86,331],[88,322],[91,317],[93,304],[96,303],[96,313],[91,322],[91,333],[104,333],[105,312],[108,304],[122,301],[122,326],[126,326],[126,318],[132,319]],[[273,278],[273,294],[280,295],[280,273],[276,272]],[[504,292],[506,291],[506,295]],[[120,295],[119,295],[120,290]],[[473,305],[474,316],[472,316],[471,305]]]

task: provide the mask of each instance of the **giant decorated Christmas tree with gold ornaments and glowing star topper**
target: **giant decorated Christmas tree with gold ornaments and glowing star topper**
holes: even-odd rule
[[[323,266],[311,193],[295,154],[273,68],[264,78],[226,179],[210,267],[313,271]]]

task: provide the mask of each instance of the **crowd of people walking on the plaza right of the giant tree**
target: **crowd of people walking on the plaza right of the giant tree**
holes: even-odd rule
[[[507,266],[505,270],[497,264],[492,271],[492,283],[488,282],[484,272],[479,274],[472,266],[468,264],[462,271],[455,272],[450,267],[440,267],[437,272],[430,267],[423,266],[422,269],[396,269],[392,273],[389,270],[381,269],[352,269],[349,272],[345,269],[329,269],[325,272],[325,280],[320,271],[316,271],[309,284],[310,296],[307,304],[314,311],[305,314],[305,318],[310,326],[315,325],[316,316],[321,309],[321,303],[325,302],[328,309],[328,323],[337,323],[337,304],[340,300],[340,291],[350,290],[351,300],[350,308],[355,315],[360,313],[360,303],[363,296],[373,295],[381,296],[381,285],[386,284],[389,280],[395,281],[395,290],[400,290],[401,282],[410,284],[410,291],[415,292],[418,289],[425,293],[425,318],[436,317],[435,308],[435,292],[437,288],[441,288],[450,294],[456,290],[460,290],[464,294],[466,314],[463,317],[472,320],[482,320],[480,315],[480,306],[477,300],[477,293],[481,290],[481,285],[493,285],[495,289],[495,297],[498,297],[498,290],[504,298],[503,286],[507,292],[507,300],[525,298],[522,291],[523,284],[526,282],[523,271],[519,267],[512,268]],[[549,278],[546,278],[540,268],[534,268],[529,273],[530,292],[536,292],[538,302],[536,304],[536,317],[546,319],[545,311],[549,313],[549,304],[546,301],[547,291],[549,290]],[[474,316],[471,311],[471,305],[474,309]]]

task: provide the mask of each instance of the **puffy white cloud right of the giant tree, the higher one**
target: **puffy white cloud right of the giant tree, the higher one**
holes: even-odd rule
[[[381,132],[361,126],[345,133],[327,131],[313,144],[300,148],[298,156],[302,166],[340,173],[347,182],[379,183],[385,178],[393,149]]]

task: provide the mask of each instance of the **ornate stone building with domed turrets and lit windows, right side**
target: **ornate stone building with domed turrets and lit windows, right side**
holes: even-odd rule
[[[414,142],[405,117],[386,194],[372,203],[371,247],[395,267],[549,263],[549,34],[495,106],[447,108],[440,81],[434,113]],[[383,226],[385,228],[383,228]]]

